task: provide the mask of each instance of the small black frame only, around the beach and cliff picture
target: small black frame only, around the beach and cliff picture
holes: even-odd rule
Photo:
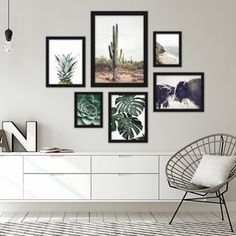
[[[157,55],[157,47],[156,47],[156,36],[158,34],[163,35],[178,35],[179,41],[179,56],[178,56],[178,63],[175,64],[158,64],[156,60]],[[182,32],[181,31],[154,31],[153,32],[153,67],[182,67]]]

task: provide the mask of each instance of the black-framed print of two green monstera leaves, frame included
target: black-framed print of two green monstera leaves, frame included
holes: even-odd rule
[[[109,142],[148,141],[146,92],[109,93]]]

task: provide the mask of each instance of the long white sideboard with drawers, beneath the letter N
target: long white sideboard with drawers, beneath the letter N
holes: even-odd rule
[[[0,153],[0,200],[173,201],[167,153]]]

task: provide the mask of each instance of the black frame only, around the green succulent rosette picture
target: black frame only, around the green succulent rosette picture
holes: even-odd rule
[[[100,97],[100,124],[99,125],[78,125],[77,124],[77,96],[78,95],[98,95]],[[102,128],[103,127],[103,92],[75,92],[74,93],[74,128]]]

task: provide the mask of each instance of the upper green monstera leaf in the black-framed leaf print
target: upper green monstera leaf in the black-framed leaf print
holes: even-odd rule
[[[145,99],[135,95],[123,95],[116,98],[115,105],[119,113],[139,116],[145,107]]]

